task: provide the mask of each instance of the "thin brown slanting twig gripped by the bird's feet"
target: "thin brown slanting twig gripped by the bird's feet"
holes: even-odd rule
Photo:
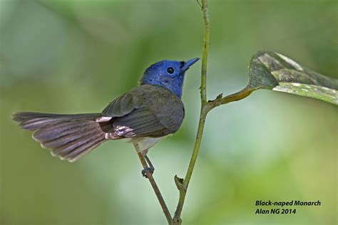
[[[138,157],[140,158],[140,162],[143,166],[143,169],[147,168],[148,164],[147,162],[145,162],[145,158],[143,157],[142,152],[140,152],[140,146],[137,143],[134,143],[133,145],[135,147],[136,152],[138,152]],[[146,174],[151,186],[154,189],[156,197],[158,197],[158,202],[160,202],[160,206],[162,207],[163,213],[165,214],[165,218],[167,218],[168,224],[173,224],[173,219],[171,219],[170,211],[167,205],[165,204],[162,194],[160,194],[160,189],[158,189],[158,185],[155,182],[153,174],[151,174],[150,172],[146,172]]]

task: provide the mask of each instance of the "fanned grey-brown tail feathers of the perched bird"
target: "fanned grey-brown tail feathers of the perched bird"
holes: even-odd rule
[[[96,118],[101,113],[47,114],[39,112],[15,112],[13,120],[20,122],[24,130],[34,130],[34,140],[44,148],[50,148],[53,156],[74,162],[104,142],[105,132]]]

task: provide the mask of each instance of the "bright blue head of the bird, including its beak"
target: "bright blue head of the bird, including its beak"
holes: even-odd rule
[[[154,63],[143,73],[140,85],[160,85],[171,90],[180,98],[182,96],[185,71],[198,60],[199,58],[193,58],[187,62],[164,60]]]

